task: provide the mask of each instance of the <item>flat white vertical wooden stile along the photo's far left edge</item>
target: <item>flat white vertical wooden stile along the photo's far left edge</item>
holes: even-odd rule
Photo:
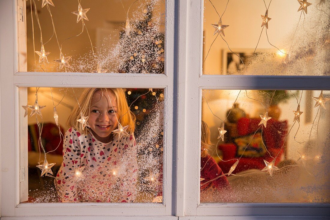
[[[14,4],[15,3],[15,4]],[[15,214],[16,139],[14,106],[14,25],[16,1],[0,1],[1,215]],[[15,15],[15,16],[14,16]],[[17,59],[16,59],[17,60]],[[19,195],[17,195],[19,196]]]

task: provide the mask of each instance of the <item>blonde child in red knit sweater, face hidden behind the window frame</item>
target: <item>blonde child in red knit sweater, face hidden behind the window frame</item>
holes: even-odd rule
[[[221,168],[216,164],[213,157],[208,154],[208,150],[212,147],[210,140],[209,126],[202,121],[201,134],[201,193],[206,189],[213,188],[222,190],[229,187],[229,182]],[[221,176],[223,175],[223,176]],[[218,176],[221,176],[217,178]],[[208,182],[208,183],[207,183]],[[201,195],[202,197],[202,195]]]

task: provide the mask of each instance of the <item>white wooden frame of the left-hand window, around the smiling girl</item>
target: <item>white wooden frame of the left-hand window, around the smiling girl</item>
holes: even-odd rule
[[[25,0],[0,1],[1,219],[177,219],[173,214],[176,161],[172,153],[176,152],[176,135],[172,134],[176,133],[177,115],[173,19],[177,2],[167,0],[165,6],[165,74],[24,72],[24,66],[18,67],[19,59],[24,58],[18,51],[26,50],[25,4]],[[19,7],[24,11],[23,21],[19,21]],[[22,126],[27,123],[19,117],[21,105],[26,105],[26,87],[164,89],[163,203],[20,203],[27,191],[27,140]],[[24,167],[25,175],[20,176]]]

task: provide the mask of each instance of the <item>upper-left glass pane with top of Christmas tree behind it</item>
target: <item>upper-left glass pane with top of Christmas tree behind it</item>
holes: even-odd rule
[[[164,1],[44,2],[26,3],[28,71],[164,73]]]

